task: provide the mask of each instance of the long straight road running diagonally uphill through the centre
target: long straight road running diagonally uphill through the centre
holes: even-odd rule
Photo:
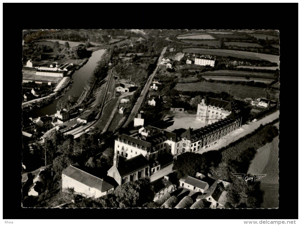
[[[164,47],[162,52],[161,52],[161,55],[158,59],[158,62],[157,62],[157,67],[156,69],[154,70],[154,72],[149,76],[148,80],[146,81],[146,84],[144,85],[144,88],[142,89],[141,93],[140,93],[140,96],[138,97],[132,111],[131,111],[131,114],[129,115],[127,121],[125,122],[125,124],[123,125],[123,127],[126,127],[127,125],[129,125],[129,123],[131,121],[134,120],[134,117],[136,116],[136,114],[138,113],[138,110],[139,108],[141,107],[141,104],[143,102],[143,100],[145,99],[145,96],[147,95],[147,92],[148,92],[148,89],[150,88],[150,84],[154,78],[154,76],[156,75],[156,72],[158,71],[158,68],[160,66],[160,62],[163,58],[163,54],[165,53],[167,47]]]

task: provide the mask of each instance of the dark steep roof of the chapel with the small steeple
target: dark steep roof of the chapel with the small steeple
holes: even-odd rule
[[[120,176],[123,177],[139,169],[142,169],[145,166],[149,166],[149,162],[142,154],[139,154],[138,156],[124,161],[123,164],[118,164],[117,169]]]

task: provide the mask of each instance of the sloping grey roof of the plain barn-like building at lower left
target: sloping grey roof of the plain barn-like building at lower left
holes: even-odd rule
[[[68,166],[63,170],[62,174],[83,183],[89,187],[93,187],[101,192],[105,192],[113,188],[111,184],[105,182],[103,179],[95,177],[87,172],[80,170],[76,165]]]

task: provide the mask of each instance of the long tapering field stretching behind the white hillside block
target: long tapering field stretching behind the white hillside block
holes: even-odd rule
[[[183,52],[219,55],[219,56],[232,56],[232,57],[238,57],[242,59],[264,59],[272,63],[278,63],[279,65],[279,55],[269,55],[269,54],[249,52],[249,51],[235,51],[235,50],[225,50],[225,49],[203,49],[203,48],[185,48],[183,49]]]

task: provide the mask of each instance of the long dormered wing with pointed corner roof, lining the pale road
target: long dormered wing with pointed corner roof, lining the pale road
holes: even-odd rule
[[[200,129],[189,127],[181,134],[182,152],[194,152],[240,127],[240,118],[229,117]]]

